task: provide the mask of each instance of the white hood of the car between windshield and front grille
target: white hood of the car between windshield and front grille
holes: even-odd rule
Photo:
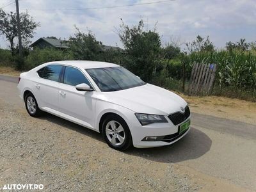
[[[157,115],[168,115],[176,111],[183,112],[180,107],[184,109],[187,105],[179,95],[153,84],[116,92],[102,92],[99,94],[99,99],[118,104],[136,113]]]

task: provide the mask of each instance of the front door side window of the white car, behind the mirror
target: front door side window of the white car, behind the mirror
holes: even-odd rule
[[[84,76],[84,74],[74,67],[66,67],[63,83],[69,84],[72,86],[76,86],[77,84],[86,83],[90,87],[91,84],[89,83],[88,79]]]

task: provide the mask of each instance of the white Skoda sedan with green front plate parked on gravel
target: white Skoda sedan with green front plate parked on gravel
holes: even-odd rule
[[[100,132],[116,150],[170,145],[190,129],[185,100],[113,63],[44,63],[20,74],[18,88],[29,115],[46,111]]]

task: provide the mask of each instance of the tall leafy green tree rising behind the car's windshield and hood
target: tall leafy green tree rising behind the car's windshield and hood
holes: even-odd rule
[[[122,19],[121,19],[122,20]],[[124,45],[124,65],[144,81],[152,81],[161,56],[161,40],[156,29],[143,30],[143,20],[138,26],[120,24],[116,33]]]

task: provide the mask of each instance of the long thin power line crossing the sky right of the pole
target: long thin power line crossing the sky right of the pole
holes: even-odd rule
[[[73,10],[100,10],[100,9],[107,9],[107,8],[120,8],[120,7],[127,7],[127,6],[137,6],[143,4],[156,4],[156,3],[166,3],[175,0],[168,0],[168,1],[154,1],[148,3],[137,3],[137,4],[125,4],[119,6],[102,6],[102,7],[92,7],[92,8],[63,8],[63,9],[21,9],[21,10],[28,10],[28,11],[73,11]]]

